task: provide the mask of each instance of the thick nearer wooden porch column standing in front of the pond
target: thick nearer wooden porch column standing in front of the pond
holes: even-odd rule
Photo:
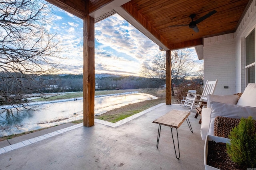
[[[95,95],[95,66],[94,66],[94,18],[87,15],[84,18],[84,126],[94,125],[94,95]]]

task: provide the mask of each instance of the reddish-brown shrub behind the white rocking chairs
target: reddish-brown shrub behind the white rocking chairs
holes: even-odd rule
[[[178,87],[176,87],[176,92],[174,96],[174,101],[179,103],[183,99],[182,96],[187,96],[188,90],[196,90],[196,94],[202,94],[203,88],[197,82],[186,82],[181,83]]]

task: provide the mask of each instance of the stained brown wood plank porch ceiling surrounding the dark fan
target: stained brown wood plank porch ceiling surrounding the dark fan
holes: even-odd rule
[[[111,10],[114,9],[113,6],[120,7],[120,4],[127,1],[122,8],[152,34],[150,37],[156,37],[155,40],[161,41],[161,44],[166,47],[169,47],[170,44],[182,47],[178,43],[188,43],[194,41],[194,39],[201,39],[210,35],[234,32],[244,11],[249,6],[248,3],[252,3],[252,0],[190,0],[189,3],[187,0],[89,0],[89,7],[87,6],[84,9],[84,0],[47,1],[79,18],[88,14],[86,10],[89,10],[89,15],[93,18],[98,18],[103,14],[108,16],[111,14]],[[95,10],[97,12],[94,12]],[[198,23],[200,30],[198,33],[187,26],[169,27],[171,25],[189,24],[191,21],[190,14],[196,14],[194,20],[197,20],[212,10],[216,10],[217,13]],[[100,12],[103,13],[99,15]]]

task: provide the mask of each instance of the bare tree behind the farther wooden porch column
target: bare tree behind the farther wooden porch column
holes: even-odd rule
[[[178,50],[178,57],[175,59],[174,51],[171,52],[172,66],[172,82],[176,83],[179,80],[184,80],[192,75],[194,62],[191,59],[191,49]],[[155,55],[150,63],[144,62],[141,69],[142,76],[152,79],[153,81],[166,79],[166,55],[160,53]],[[173,86],[172,86],[172,95]]]

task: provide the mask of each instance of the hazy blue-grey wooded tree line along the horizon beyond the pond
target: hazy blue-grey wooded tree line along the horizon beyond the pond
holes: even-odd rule
[[[23,103],[31,96],[40,97],[44,93],[83,91],[82,74],[30,75],[0,72],[0,105]],[[13,82],[12,77],[19,77]],[[33,79],[33,80],[32,80]],[[22,86],[20,86],[22,84]],[[165,81],[135,76],[107,76],[95,78],[96,90],[119,90],[164,87]],[[8,94],[8,95],[5,95]]]

